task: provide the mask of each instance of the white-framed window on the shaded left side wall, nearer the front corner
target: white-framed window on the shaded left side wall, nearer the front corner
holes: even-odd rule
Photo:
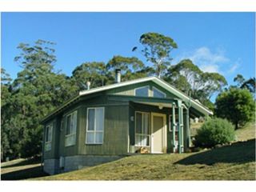
[[[75,110],[71,114],[66,115],[66,135],[65,135],[65,146],[74,146],[76,142],[77,132],[77,114]]]

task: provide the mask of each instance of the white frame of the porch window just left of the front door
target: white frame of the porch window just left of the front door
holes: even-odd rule
[[[136,132],[137,132],[137,123],[136,123],[136,121],[137,121],[137,114],[148,114],[149,115],[149,134],[137,134]],[[143,117],[143,115],[142,115],[142,117]],[[134,127],[135,127],[135,131],[134,131],[134,146],[142,146],[142,145],[138,145],[137,144],[137,142],[136,142],[136,136],[137,135],[139,135],[139,136],[146,136],[146,137],[148,137],[149,138],[149,145],[147,146],[143,146],[143,147],[150,147],[151,146],[151,115],[150,115],[150,112],[143,112],[143,111],[135,111],[135,121],[134,121]],[[142,130],[143,130],[143,123],[144,123],[144,121],[142,120]]]

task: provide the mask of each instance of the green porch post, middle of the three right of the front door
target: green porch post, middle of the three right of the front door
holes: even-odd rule
[[[182,154],[184,151],[183,141],[183,107],[182,101],[178,100],[178,153]]]

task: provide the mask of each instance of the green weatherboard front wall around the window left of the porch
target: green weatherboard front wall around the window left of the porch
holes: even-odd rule
[[[90,105],[88,105],[90,103]],[[88,107],[104,107],[104,136],[102,144],[86,144],[86,123]],[[120,155],[127,154],[129,106],[128,102],[106,101],[95,98],[82,106],[78,154]]]

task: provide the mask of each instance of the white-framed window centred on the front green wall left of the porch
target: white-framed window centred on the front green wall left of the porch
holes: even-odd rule
[[[104,136],[104,107],[87,108],[86,144],[102,144]]]

